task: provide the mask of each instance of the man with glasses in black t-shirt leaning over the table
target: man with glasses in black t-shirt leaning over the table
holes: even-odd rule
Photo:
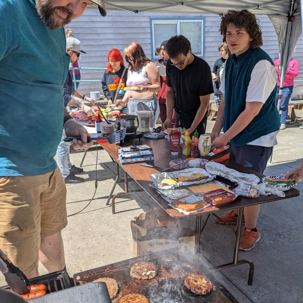
[[[190,134],[196,128],[199,136],[205,134],[209,99],[214,92],[211,69],[203,59],[191,53],[191,44],[182,35],[170,38],[165,49],[169,60],[166,65],[167,119],[163,128],[170,127],[175,108],[177,124]]]

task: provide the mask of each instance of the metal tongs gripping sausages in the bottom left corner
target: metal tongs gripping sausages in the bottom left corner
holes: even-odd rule
[[[15,291],[19,295],[28,294],[30,282],[26,278],[25,274],[4,254],[0,249],[0,271],[5,276],[5,281],[12,291]]]

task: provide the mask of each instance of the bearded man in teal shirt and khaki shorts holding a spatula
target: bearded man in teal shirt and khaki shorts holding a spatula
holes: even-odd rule
[[[49,272],[65,267],[66,187],[54,156],[63,128],[81,136],[75,149],[92,142],[64,108],[63,27],[93,3],[105,16],[102,0],[0,0],[0,248],[28,278],[39,259]]]

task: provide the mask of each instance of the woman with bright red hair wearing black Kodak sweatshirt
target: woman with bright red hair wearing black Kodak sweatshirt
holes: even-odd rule
[[[121,100],[124,96],[123,88],[127,80],[127,68],[124,67],[124,59],[117,48],[108,51],[107,62],[107,69],[102,78],[102,89],[108,104],[113,104],[117,98]],[[118,87],[119,83],[120,87]]]

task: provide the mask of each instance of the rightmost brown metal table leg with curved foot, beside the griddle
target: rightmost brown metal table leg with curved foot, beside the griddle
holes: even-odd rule
[[[234,267],[234,266],[238,266],[238,265],[242,265],[242,264],[249,264],[248,285],[252,285],[252,280],[253,280],[253,277],[254,277],[254,269],[255,269],[254,263],[249,259],[238,260],[243,212],[244,212],[244,207],[239,208],[237,228],[236,228],[236,232],[235,232],[236,239],[235,239],[235,249],[234,249],[233,262],[218,265],[218,266],[213,266],[213,267],[209,268],[209,270],[210,271],[217,271],[217,270],[230,268],[230,267]]]

